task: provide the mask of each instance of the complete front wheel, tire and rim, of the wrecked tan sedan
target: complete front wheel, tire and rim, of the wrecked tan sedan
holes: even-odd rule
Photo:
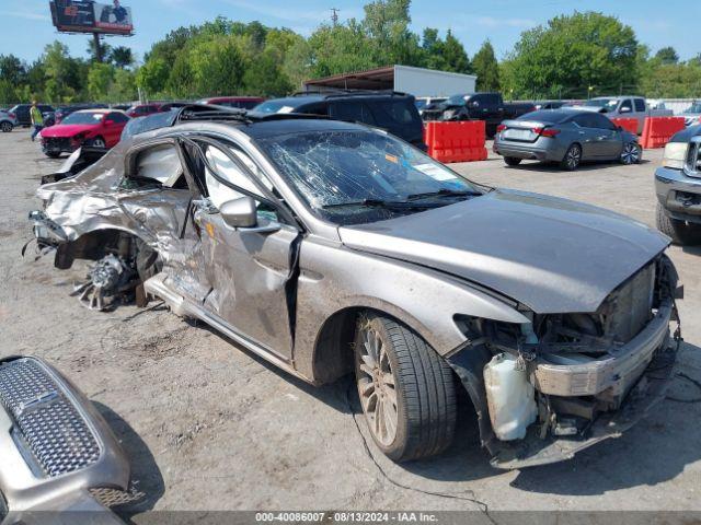
[[[452,371],[418,335],[380,314],[363,316],[355,365],[370,434],[390,459],[428,457],[450,445],[456,425]]]

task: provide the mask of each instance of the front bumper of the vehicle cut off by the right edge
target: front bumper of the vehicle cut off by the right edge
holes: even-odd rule
[[[658,167],[655,192],[669,217],[701,224],[701,177],[690,177],[682,170]]]

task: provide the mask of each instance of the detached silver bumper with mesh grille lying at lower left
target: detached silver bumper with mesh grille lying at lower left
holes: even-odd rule
[[[38,359],[0,361],[0,458],[2,523],[85,511],[91,523],[122,523],[91,491],[128,490],[127,458],[93,405]]]

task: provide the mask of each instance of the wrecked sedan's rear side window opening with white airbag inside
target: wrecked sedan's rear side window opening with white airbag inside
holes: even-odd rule
[[[159,144],[139,152],[129,178],[137,184],[159,184],[174,189],[187,188],[183,166],[174,144]]]

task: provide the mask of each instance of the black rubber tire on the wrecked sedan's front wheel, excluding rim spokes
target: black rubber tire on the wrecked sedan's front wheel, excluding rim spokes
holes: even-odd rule
[[[393,390],[397,400],[395,432],[393,438],[386,439],[384,443],[374,429],[377,420],[366,410],[364,398],[368,396],[361,393],[363,385],[367,390],[372,383],[367,382],[369,375],[361,370],[364,364],[366,371],[369,368],[367,361],[363,359],[367,348],[365,337],[369,331],[376,334],[382,343],[382,350],[389,361],[390,374],[393,377],[393,386],[388,389]],[[378,362],[381,363],[381,358]],[[358,394],[370,434],[377,446],[390,459],[406,462],[428,457],[441,453],[450,445],[456,427],[456,392],[452,371],[426,341],[392,318],[369,313],[360,317],[356,329],[355,363]],[[382,369],[382,365],[380,364],[379,368]],[[387,373],[380,375],[387,375]],[[364,380],[366,383],[363,383]],[[370,388],[376,390],[374,386]],[[386,399],[390,399],[390,396]],[[376,407],[379,402],[378,399]],[[384,415],[384,410],[382,413]]]

